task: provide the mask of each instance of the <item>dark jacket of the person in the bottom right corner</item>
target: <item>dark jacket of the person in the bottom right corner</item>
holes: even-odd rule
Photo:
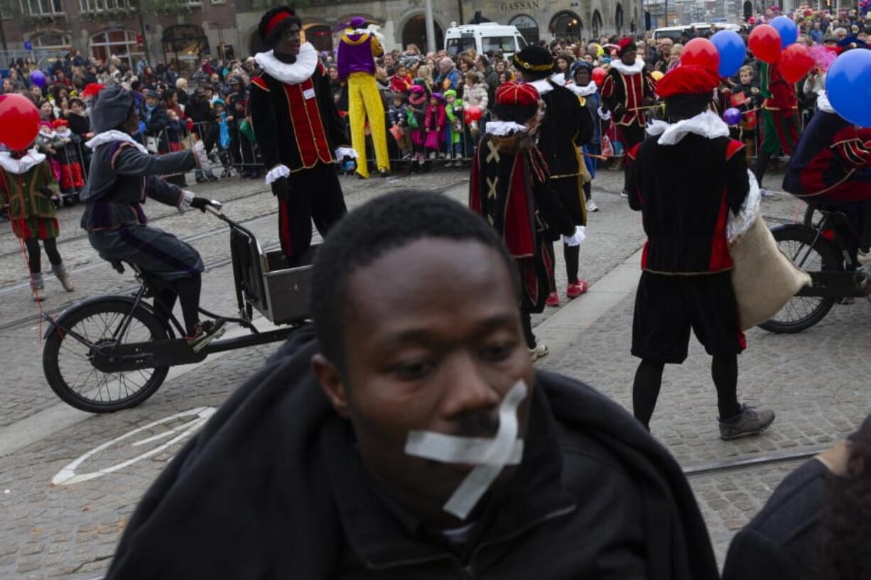
[[[815,459],[787,475],[760,513],[733,538],[723,580],[812,577],[817,532],[832,477]]]

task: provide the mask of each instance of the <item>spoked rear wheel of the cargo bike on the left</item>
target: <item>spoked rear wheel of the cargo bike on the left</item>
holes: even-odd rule
[[[94,344],[169,338],[162,320],[145,307],[131,312],[132,306],[127,300],[107,298],[64,314],[60,323]],[[123,336],[113,338],[128,314],[130,326]],[[43,371],[51,390],[72,407],[90,413],[136,407],[157,391],[169,372],[168,367],[157,367],[105,373],[92,364],[91,351],[91,347],[60,331],[50,334],[43,350]]]

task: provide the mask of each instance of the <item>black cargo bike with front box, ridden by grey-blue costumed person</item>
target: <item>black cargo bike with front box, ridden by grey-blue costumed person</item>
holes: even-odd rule
[[[264,251],[246,227],[206,207],[230,227],[230,253],[239,315],[224,316],[242,334],[216,339],[194,352],[179,319],[155,304],[163,282],[137,266],[113,262],[119,273],[131,267],[139,282],[131,294],[97,296],[82,300],[52,318],[44,314],[43,370],[51,389],[72,407],[91,413],[109,413],[136,407],[157,392],[170,367],[205,360],[209,354],[284,341],[306,323],[311,264],[318,245],[288,267],[285,254]],[[254,311],[280,327],[260,332]],[[218,318],[205,308],[202,314]]]

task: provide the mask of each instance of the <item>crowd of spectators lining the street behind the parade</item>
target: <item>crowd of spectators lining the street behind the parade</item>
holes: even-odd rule
[[[750,17],[742,24],[740,34],[746,38],[754,25],[778,15],[776,9],[771,9],[766,15]],[[798,42],[807,46],[861,44],[868,41],[871,33],[871,18],[857,10],[841,14],[804,10],[790,16],[800,28]],[[635,37],[638,55],[645,60],[648,71],[665,73],[678,66],[687,42],[712,32],[689,28],[677,39],[656,40],[652,31],[639,34]],[[570,71],[577,71],[577,67],[573,69],[572,64],[583,61],[607,70],[618,41],[618,36],[610,36],[542,44],[553,54],[554,80],[573,84]],[[322,52],[321,61],[327,68],[340,114],[347,116],[347,91],[339,78],[334,55]],[[62,167],[71,163],[78,163],[86,178],[87,151],[81,143],[91,136],[88,121],[91,93],[87,88],[98,84],[123,84],[133,91],[142,120],[140,135],[153,152],[177,151],[189,145],[196,135],[206,142],[215,166],[222,170],[221,176],[235,172],[246,179],[260,177],[260,157],[246,113],[249,84],[258,72],[253,57],[204,57],[195,70],[179,71],[175,64],[152,65],[145,57],[135,62],[118,57],[98,62],[79,51],[71,51],[43,64],[43,83],[31,80],[34,71],[40,69],[30,60],[19,58],[10,63],[4,71],[2,92],[20,92],[37,105],[43,122],[37,145],[57,159],[53,164],[57,165],[59,179]],[[418,170],[429,169],[437,159],[443,165],[463,165],[490,118],[496,89],[513,80],[514,74],[510,58],[497,51],[423,52],[415,44],[408,44],[404,50],[386,51],[377,60],[376,78],[387,113],[385,129],[393,136],[389,139],[390,156],[396,162],[407,162],[409,169]],[[721,92],[726,95],[730,91],[743,92],[747,96],[745,108],[752,109],[754,88],[759,81],[758,63],[748,52],[746,66],[739,75],[724,82]],[[823,81],[824,75],[816,68],[800,81],[797,88],[804,118],[813,113],[815,96]],[[480,121],[467,114],[474,108],[483,111]],[[614,143],[610,149],[619,157],[622,149],[618,136],[608,132],[606,121],[600,122],[603,126],[599,133],[611,135]],[[198,172],[196,179],[218,178],[206,170]],[[63,185],[68,199],[75,199],[78,182],[67,179]]]

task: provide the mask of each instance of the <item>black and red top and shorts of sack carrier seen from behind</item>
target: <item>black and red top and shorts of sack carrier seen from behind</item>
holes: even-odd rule
[[[746,347],[732,287],[728,212],[749,191],[744,144],[687,134],[675,145],[645,139],[629,153],[629,205],[647,242],[632,323],[632,354],[679,364],[692,327],[713,356]]]

